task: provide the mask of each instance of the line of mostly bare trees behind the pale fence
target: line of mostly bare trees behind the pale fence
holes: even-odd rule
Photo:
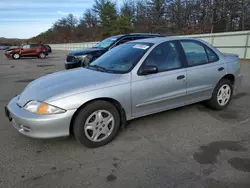
[[[250,0],[95,0],[32,38],[43,43],[98,41],[124,33],[181,35],[250,30]]]

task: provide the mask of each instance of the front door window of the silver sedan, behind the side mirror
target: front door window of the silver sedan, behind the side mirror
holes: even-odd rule
[[[159,72],[182,67],[181,59],[175,42],[165,42],[155,47],[142,66],[153,65]]]

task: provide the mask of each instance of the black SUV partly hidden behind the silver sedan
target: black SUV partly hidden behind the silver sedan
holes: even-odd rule
[[[86,66],[89,63],[96,60],[101,55],[103,55],[108,50],[120,44],[133,40],[155,38],[155,37],[164,37],[164,36],[159,34],[132,33],[132,34],[123,34],[123,35],[116,35],[109,37],[97,43],[92,48],[71,51],[67,55],[67,59],[65,61],[65,69],[72,69],[76,67]]]

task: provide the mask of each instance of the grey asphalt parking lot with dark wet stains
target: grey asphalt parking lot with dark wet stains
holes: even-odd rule
[[[250,61],[226,110],[195,104],[136,119],[112,143],[88,149],[72,137],[22,136],[4,115],[29,82],[63,70],[65,55],[12,60],[0,52],[0,187],[250,187]]]

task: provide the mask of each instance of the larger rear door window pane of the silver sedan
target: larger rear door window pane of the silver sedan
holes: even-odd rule
[[[202,44],[193,41],[181,41],[188,66],[196,66],[208,63],[207,53]]]

